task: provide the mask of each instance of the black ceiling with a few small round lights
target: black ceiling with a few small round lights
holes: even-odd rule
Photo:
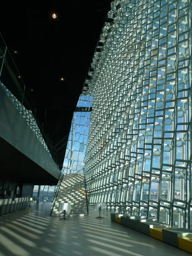
[[[44,124],[43,130],[58,152],[60,169],[73,111],[110,3],[111,0],[55,1],[44,6],[18,3],[3,6],[0,15],[0,32],[34,102],[39,124]],[[52,18],[53,13],[56,19]]]

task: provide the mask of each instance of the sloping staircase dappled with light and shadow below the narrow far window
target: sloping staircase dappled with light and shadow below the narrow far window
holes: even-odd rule
[[[71,204],[70,217],[87,215],[87,201],[83,174],[64,175],[53,207],[52,216],[59,216],[59,203]]]

